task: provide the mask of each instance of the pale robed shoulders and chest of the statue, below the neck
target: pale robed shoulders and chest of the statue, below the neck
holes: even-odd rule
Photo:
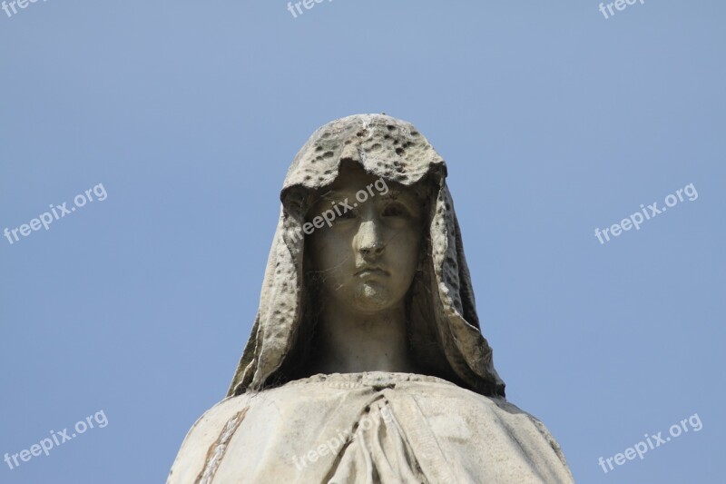
[[[209,456],[220,452],[215,467]],[[169,482],[196,482],[210,469],[214,479],[201,482],[572,481],[534,417],[504,399],[403,373],[317,376],[223,400],[194,424]]]

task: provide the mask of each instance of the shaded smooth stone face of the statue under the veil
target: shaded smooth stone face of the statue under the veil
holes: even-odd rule
[[[367,200],[359,202],[363,193]],[[321,296],[360,312],[401,303],[416,273],[421,244],[422,209],[416,194],[358,166],[342,165],[309,220],[334,206],[341,214],[306,239],[309,269],[319,273]]]

